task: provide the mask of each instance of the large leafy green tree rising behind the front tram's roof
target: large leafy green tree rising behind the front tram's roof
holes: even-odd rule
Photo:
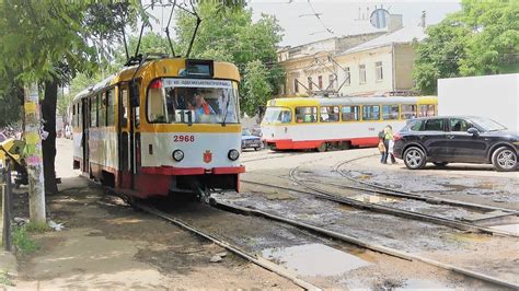
[[[265,105],[264,101],[272,98],[282,82],[284,71],[277,65],[276,54],[282,38],[281,27],[269,15],[262,15],[257,22],[253,22],[252,11],[240,5],[228,8],[219,5],[217,1],[203,1],[196,10],[201,24],[189,57],[235,63],[243,78],[240,86],[242,110],[254,115],[257,105]],[[193,15],[177,14],[177,54],[186,54],[195,25]],[[257,91],[256,82],[250,78],[261,78],[257,83],[266,80],[265,89],[268,90]]]

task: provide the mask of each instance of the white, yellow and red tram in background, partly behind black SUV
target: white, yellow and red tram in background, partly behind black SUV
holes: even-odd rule
[[[374,147],[387,125],[438,113],[436,97],[293,97],[267,103],[262,137],[273,150]]]

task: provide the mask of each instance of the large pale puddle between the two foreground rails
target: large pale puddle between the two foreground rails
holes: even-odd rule
[[[322,244],[267,248],[261,255],[301,276],[337,276],[371,265],[357,256]]]

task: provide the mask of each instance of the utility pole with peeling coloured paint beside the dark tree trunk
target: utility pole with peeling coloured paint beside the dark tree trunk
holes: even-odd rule
[[[28,212],[32,223],[44,224],[45,187],[43,175],[42,139],[39,137],[39,97],[38,86],[31,83],[24,89],[25,108],[25,161],[28,178]]]

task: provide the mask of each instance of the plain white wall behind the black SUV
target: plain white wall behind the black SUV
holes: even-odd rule
[[[519,131],[519,73],[438,80],[439,115],[476,115]]]

